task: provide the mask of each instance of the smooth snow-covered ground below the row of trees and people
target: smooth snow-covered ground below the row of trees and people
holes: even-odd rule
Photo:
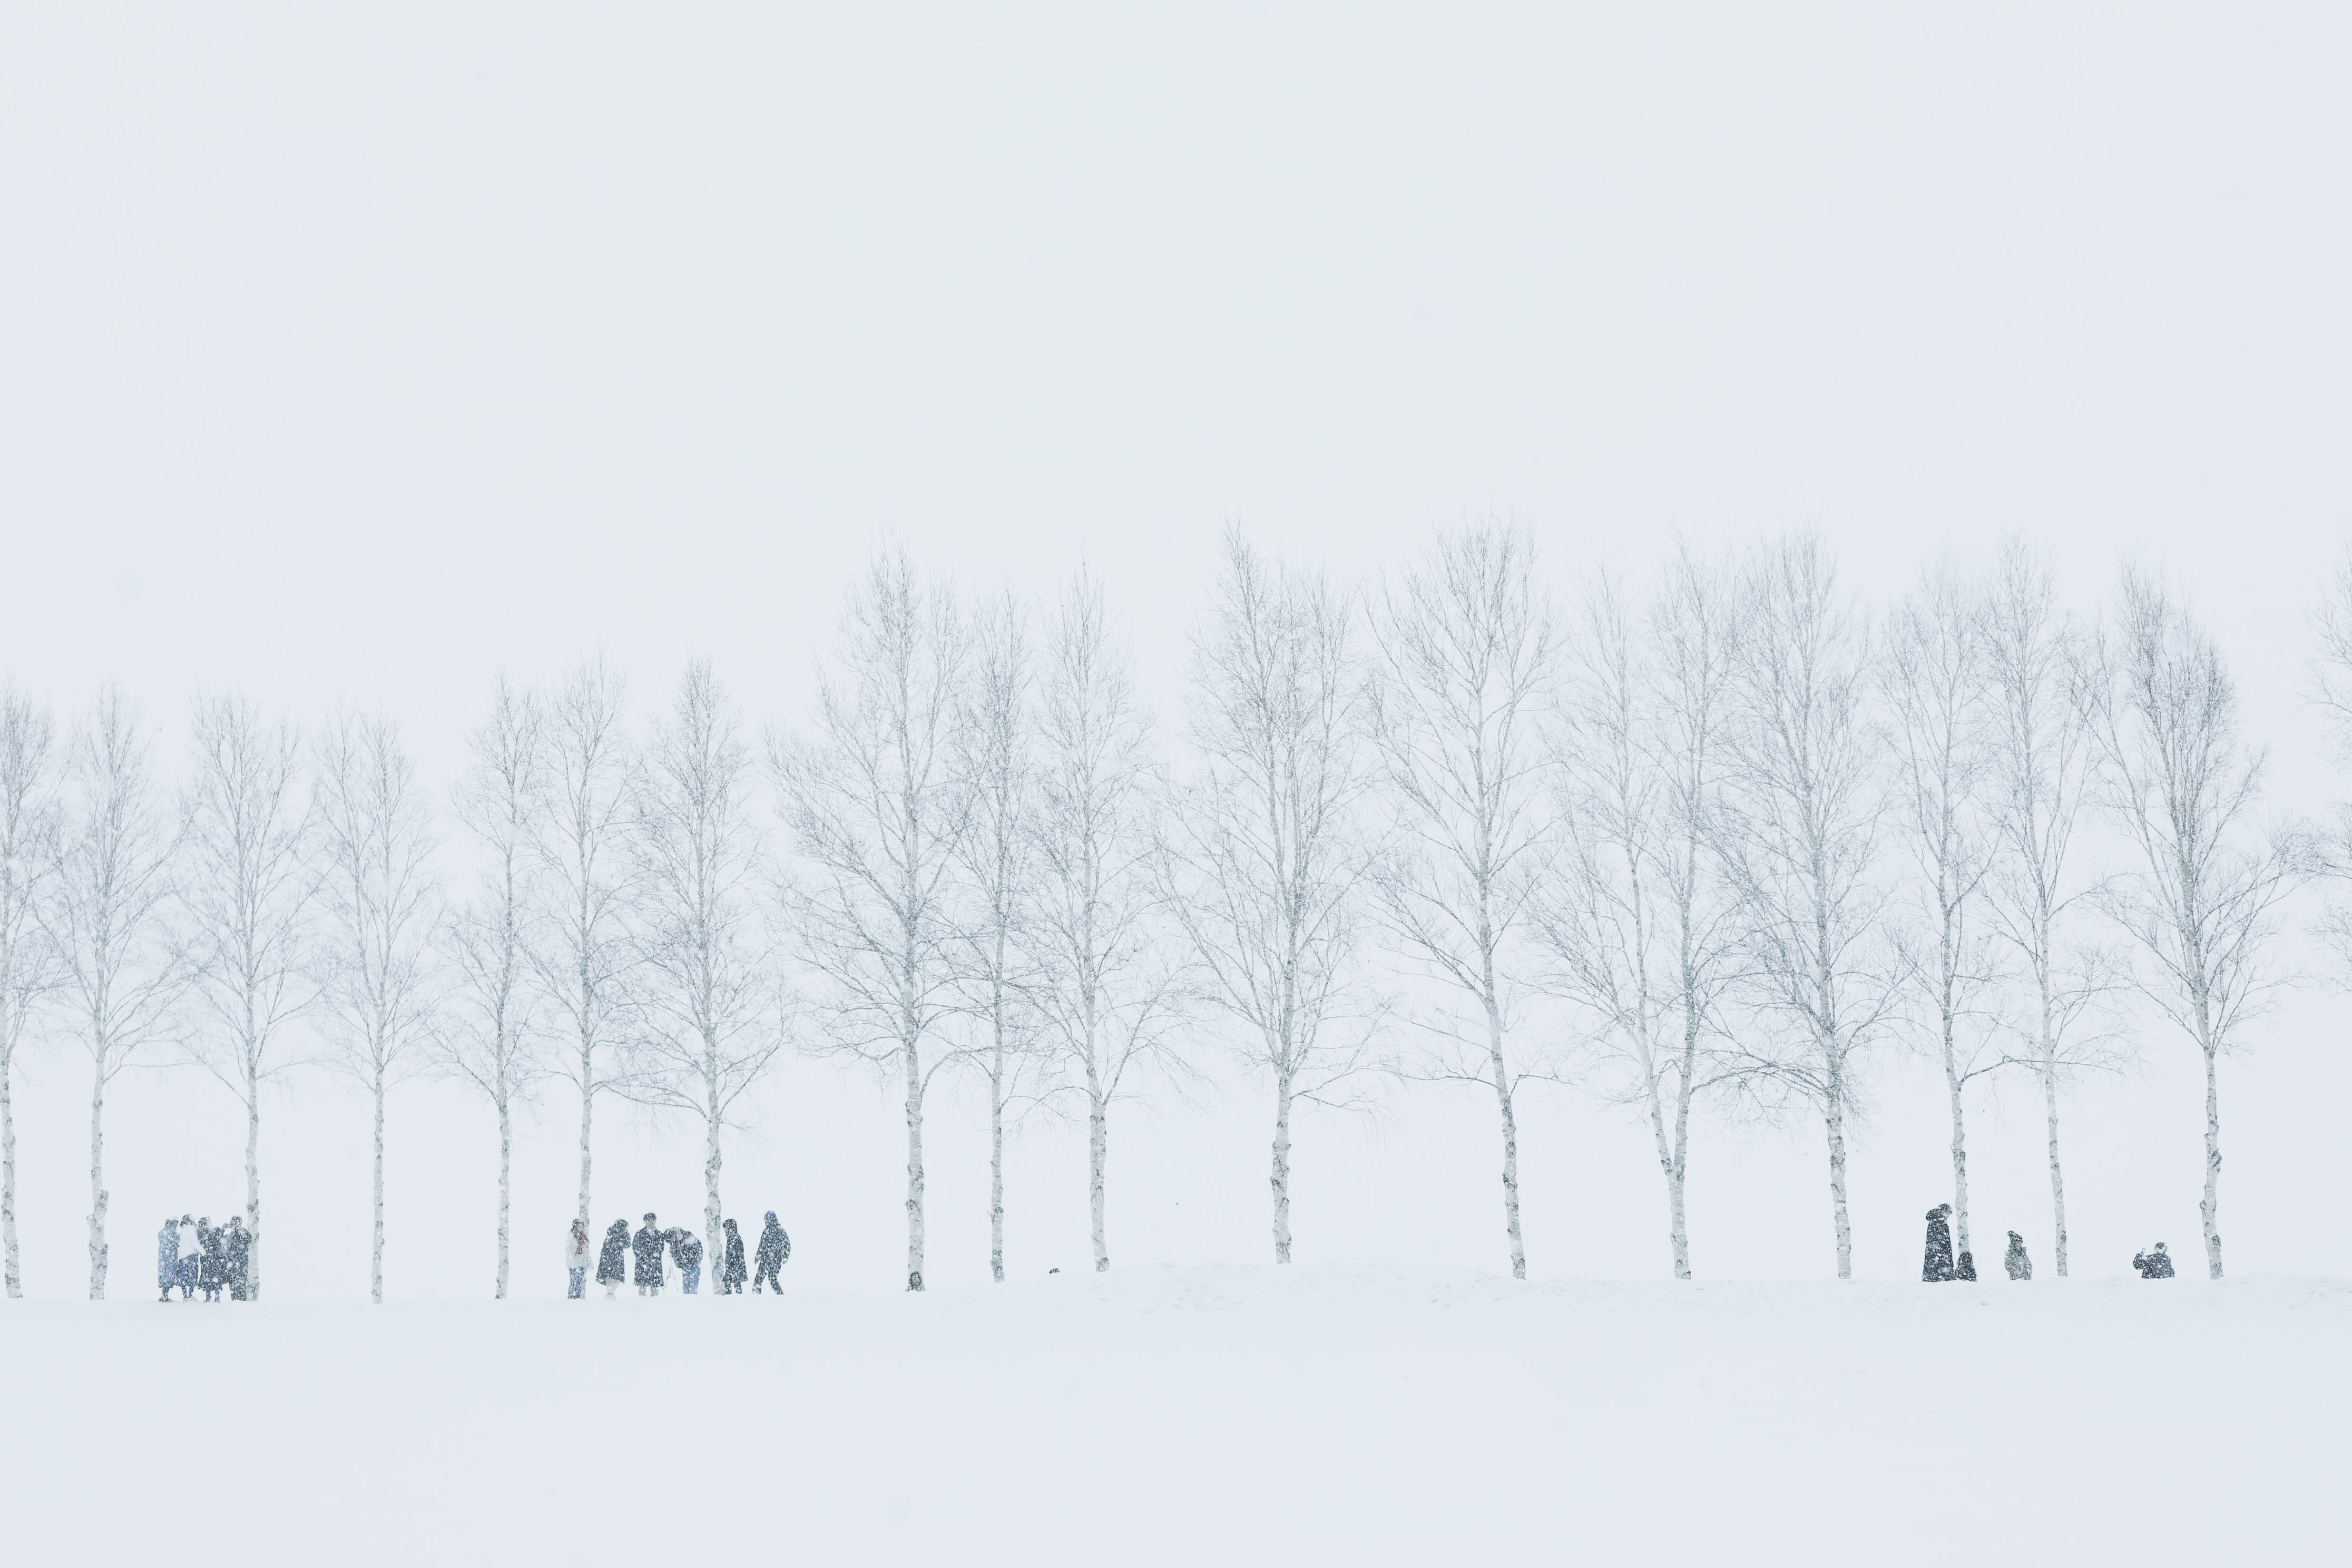
[[[2347,1408],[2312,1279],[19,1302],[0,1561],[2319,1563]]]

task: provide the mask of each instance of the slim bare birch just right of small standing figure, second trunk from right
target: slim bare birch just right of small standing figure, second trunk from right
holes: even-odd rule
[[[2051,1232],[2058,1276],[2067,1272],[2065,1168],[2058,1159],[2058,1088],[2084,1067],[2105,1065],[2082,1025],[2096,1004],[2103,964],[2079,940],[2082,900],[2096,884],[2074,870],[2074,832],[2098,788],[2098,755],[2084,724],[2084,644],[2058,607],[2049,559],[2023,541],[2002,543],[1985,604],[1985,663],[1992,684],[1990,795],[1997,851],[1985,882],[1992,931],[2025,966],[2027,1065],[2042,1084],[2051,1171]]]

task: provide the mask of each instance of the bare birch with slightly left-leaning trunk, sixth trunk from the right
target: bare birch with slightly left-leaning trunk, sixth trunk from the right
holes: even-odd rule
[[[1536,585],[1536,541],[1512,522],[1439,531],[1374,616],[1369,729],[1390,832],[1371,858],[1374,907],[1395,945],[1449,992],[1416,1013],[1416,1077],[1477,1084],[1503,1126],[1503,1234],[1519,1234],[1519,1086],[1552,1077],[1515,1039],[1526,997],[1526,914],[1548,870],[1552,802],[1543,719],[1557,642]]]

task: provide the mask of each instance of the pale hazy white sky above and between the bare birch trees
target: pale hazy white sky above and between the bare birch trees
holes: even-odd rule
[[[2303,618],[2352,527],[2352,19],[2333,7],[42,7],[0,0],[0,663],[61,710],[383,703],[445,783],[492,670],[708,651],[793,719],[884,531],[974,585],[1084,552],[1174,738],[1218,529],[1343,574],[1531,520],[1562,583],[1670,529],[1813,524],[1872,592],[2018,529],[2079,599],[2194,590],[2338,792]],[[2347,1004],[2223,1067],[2232,1274],[2343,1272]],[[2194,1253],[2194,1053],[2070,1117],[2079,1272]],[[1214,1058],[1214,1039],[1200,1048]],[[28,1291],[85,1281],[87,1067],[21,1084]],[[2018,1091],[2025,1084],[2016,1086]],[[1529,1267],[1668,1272],[1644,1133],[1531,1095]],[[492,1281],[489,1114],[390,1107],[393,1295]],[[1265,1260],[1251,1086],[1112,1126],[1115,1262]],[[684,1128],[600,1112],[597,1220],[699,1211]],[[1980,1107],[1973,1218],[2049,1265],[2039,1107]],[[576,1100],[517,1150],[553,1293]],[[367,1286],[365,1100],[266,1110],[270,1286]],[[981,1107],[934,1103],[931,1279],[985,1279]],[[795,1060],[729,1143],[802,1288],[889,1288],[891,1098]],[[195,1074],[108,1110],[115,1293],[242,1192]],[[1303,1260],[1505,1265],[1494,1107],[1301,1131]],[[1856,1267],[1915,1276],[1940,1081],[1889,1056]],[[1703,1276],[1832,1272],[1816,1124],[1705,1128]],[[689,1220],[691,1222],[691,1220]],[[1084,1147],[1033,1126],[1009,1265],[1082,1267]]]

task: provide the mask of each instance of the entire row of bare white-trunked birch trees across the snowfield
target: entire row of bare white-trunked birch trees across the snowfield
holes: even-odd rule
[[[2321,670],[2352,670],[2352,614],[2319,630]],[[2352,712],[2338,691],[2324,679]],[[1277,1262],[1294,1114],[1456,1081],[1496,1100],[1524,1276],[1519,1095],[1573,1077],[1646,1119],[1682,1279],[1693,1107],[1818,1117],[1846,1276],[1849,1121],[1875,1058],[1907,1046],[1945,1079],[1962,1251],[1969,1086],[2039,1086],[2065,1274],[2060,1095],[2114,1065],[2131,997],[2204,1058],[2223,1269],[2216,1060],[2279,980],[2281,898],[2328,856],[2256,823],[2263,757],[2230,675],[2157,578],[2124,571],[2079,618],[2011,541],[1870,614],[1792,536],[1675,550],[1639,597],[1595,574],[1557,611],[1510,522],[1439,531],[1364,592],[1232,534],[1174,752],[1091,576],[1049,604],[971,599],[896,550],[851,588],[809,719],[764,748],[706,663],[642,733],[600,661],[548,691],[501,677],[447,849],[388,717],[303,738],[200,698],[174,797],[118,691],[59,741],[7,689],[7,1291],[9,1084],[33,1027],[92,1063],[92,1298],[106,1088],[134,1060],[238,1095],[256,1237],[261,1088],[310,1063],[360,1081],[381,1300],[405,1074],[461,1077],[496,1110],[506,1295],[527,1095],[579,1093],[583,1222],[600,1095],[696,1126],[717,1255],[722,1131],[788,1046],[903,1091],[908,1288],[941,1072],[985,1086],[995,1276],[1007,1126],[1056,1100],[1084,1112],[1108,1269],[1110,1112],[1197,1074],[1209,1044],[1272,1091]]]

